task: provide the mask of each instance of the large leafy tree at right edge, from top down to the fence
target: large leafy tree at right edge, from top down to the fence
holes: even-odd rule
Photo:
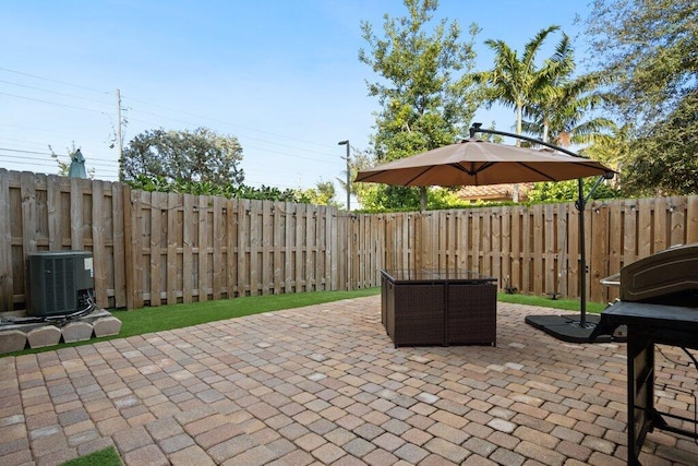
[[[594,0],[594,56],[613,77],[610,109],[631,133],[623,169],[629,194],[696,193],[698,3]]]

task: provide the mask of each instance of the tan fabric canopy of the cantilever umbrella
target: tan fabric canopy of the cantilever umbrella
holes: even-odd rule
[[[398,186],[485,186],[562,181],[613,172],[585,157],[470,138],[359,171],[356,181]]]

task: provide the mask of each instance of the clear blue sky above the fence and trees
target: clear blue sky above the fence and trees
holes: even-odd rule
[[[341,178],[337,142],[366,148],[377,109],[365,81],[378,76],[358,60],[360,23],[380,33],[385,13],[406,9],[399,0],[4,2],[0,167],[53,174],[48,146],[68,160],[74,143],[96,178],[116,180],[119,88],[127,143],[151,129],[207,127],[240,140],[248,184]],[[586,0],[442,0],[435,17],[465,31],[478,23],[478,68],[486,69],[485,39],[520,50],[551,24],[575,37],[576,14],[587,16]],[[581,59],[583,44],[577,50]],[[476,119],[508,130],[514,112],[481,109]]]

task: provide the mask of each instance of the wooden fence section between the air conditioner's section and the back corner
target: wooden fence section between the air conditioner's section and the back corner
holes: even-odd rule
[[[128,308],[347,288],[334,208],[123,192]]]

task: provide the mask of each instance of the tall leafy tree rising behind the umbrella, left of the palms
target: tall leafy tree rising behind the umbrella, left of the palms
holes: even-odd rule
[[[382,107],[372,139],[377,163],[453,143],[466,133],[477,108],[470,79],[477,25],[470,26],[470,39],[461,41],[455,21],[442,20],[429,31],[437,0],[405,0],[405,7],[407,16],[384,16],[383,37],[370,23],[361,24],[369,51],[362,48],[359,60],[381,76],[368,84],[369,95],[377,97]],[[371,189],[383,191],[373,196],[376,202],[395,207],[410,204],[414,191],[381,186]],[[425,208],[425,201],[426,190],[422,189],[421,208]]]

